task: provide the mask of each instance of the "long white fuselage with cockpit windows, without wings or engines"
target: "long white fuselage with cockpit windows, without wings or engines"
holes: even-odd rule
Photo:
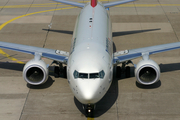
[[[113,76],[111,21],[101,3],[87,4],[77,17],[67,77],[72,92],[83,104],[97,103],[109,89]]]

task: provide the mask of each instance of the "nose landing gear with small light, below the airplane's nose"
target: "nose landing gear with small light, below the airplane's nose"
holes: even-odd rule
[[[93,117],[95,105],[93,104],[83,105],[83,109],[85,110],[87,117]]]

